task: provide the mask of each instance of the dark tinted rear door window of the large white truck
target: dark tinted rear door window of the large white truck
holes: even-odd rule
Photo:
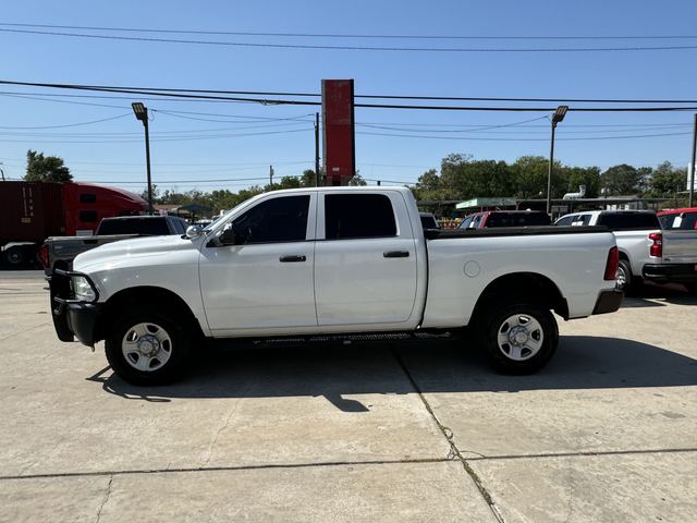
[[[383,194],[325,195],[325,238],[396,236],[396,221],[390,198]]]

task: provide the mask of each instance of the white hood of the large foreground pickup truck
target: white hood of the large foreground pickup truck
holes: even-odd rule
[[[73,270],[89,272],[124,266],[157,265],[172,252],[198,250],[200,240],[189,240],[173,234],[107,243],[80,254],[73,262]]]

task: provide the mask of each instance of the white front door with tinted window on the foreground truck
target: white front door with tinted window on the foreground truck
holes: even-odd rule
[[[215,238],[207,242],[199,273],[213,336],[284,333],[317,325],[316,198],[313,193],[270,196],[229,224],[235,245],[220,245]]]

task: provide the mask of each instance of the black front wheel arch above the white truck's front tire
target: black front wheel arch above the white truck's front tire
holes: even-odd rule
[[[204,337],[201,326],[188,304],[175,292],[162,287],[131,287],[123,289],[105,302],[95,324],[95,341],[103,340],[111,323],[119,317],[119,311],[127,309],[147,303],[155,309],[164,309],[181,314],[189,323],[194,333]]]

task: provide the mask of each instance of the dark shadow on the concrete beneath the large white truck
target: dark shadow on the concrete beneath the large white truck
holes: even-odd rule
[[[216,343],[191,376],[136,387],[109,367],[87,378],[130,400],[325,397],[343,412],[368,406],[346,396],[697,385],[697,360],[637,341],[565,336],[552,362],[531,376],[493,372],[475,348],[457,341],[235,346]]]

